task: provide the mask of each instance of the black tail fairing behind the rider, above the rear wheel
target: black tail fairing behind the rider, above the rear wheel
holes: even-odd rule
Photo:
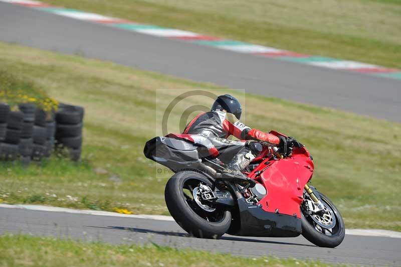
[[[197,146],[184,140],[155,137],[145,144],[143,154],[173,171],[196,168],[201,162]]]

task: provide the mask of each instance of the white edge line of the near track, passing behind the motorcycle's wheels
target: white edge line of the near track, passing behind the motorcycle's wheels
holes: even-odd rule
[[[159,221],[174,221],[174,219],[172,217],[164,216],[164,215],[120,214],[120,213],[109,212],[109,211],[80,210],[80,209],[69,209],[69,208],[43,206],[43,205],[0,204],[0,208],[28,209],[28,210],[38,210],[38,211],[50,211],[50,212],[67,212],[67,213],[75,213],[75,214],[89,214],[89,215],[125,217],[125,218],[135,218],[135,219],[150,219],[150,220],[159,220]],[[346,229],[345,233],[347,235],[401,238],[401,232],[381,230],[381,229]]]

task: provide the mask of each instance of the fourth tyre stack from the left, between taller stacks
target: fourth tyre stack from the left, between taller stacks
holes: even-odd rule
[[[34,130],[32,133],[34,144],[31,154],[31,158],[34,161],[41,161],[45,155],[47,139],[46,116],[47,114],[44,110],[36,109]]]

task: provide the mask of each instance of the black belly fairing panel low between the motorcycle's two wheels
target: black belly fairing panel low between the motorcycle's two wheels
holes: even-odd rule
[[[240,227],[229,232],[232,235],[258,237],[295,237],[301,234],[301,220],[297,217],[266,212],[251,205],[244,198],[238,199]]]

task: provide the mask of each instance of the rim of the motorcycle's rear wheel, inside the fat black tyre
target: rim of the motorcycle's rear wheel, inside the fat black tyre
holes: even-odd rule
[[[182,197],[188,204],[189,208],[196,213],[200,218],[211,222],[219,223],[225,217],[225,211],[216,207],[213,202],[207,202],[199,197],[199,185],[204,184],[205,181],[197,178],[188,178],[182,183]]]

